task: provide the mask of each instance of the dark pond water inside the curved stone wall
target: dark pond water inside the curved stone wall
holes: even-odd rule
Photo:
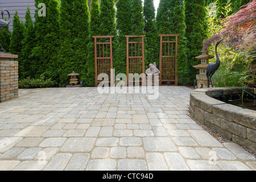
[[[232,104],[235,106],[242,107],[243,109],[251,109],[256,110],[256,99],[253,96],[245,95],[243,96],[243,100],[241,98],[242,96],[239,94],[232,95],[232,96],[218,96],[214,97],[219,101],[225,102],[226,104]]]

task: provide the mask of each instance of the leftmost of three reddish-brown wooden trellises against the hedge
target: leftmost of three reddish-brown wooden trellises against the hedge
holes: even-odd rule
[[[100,82],[106,84],[110,83],[113,86],[113,52],[112,52],[112,38],[114,36],[93,36],[94,38],[94,60],[95,60],[95,86],[98,86]],[[109,42],[97,42],[97,38],[109,39]],[[106,76],[99,76],[101,73],[105,73]],[[98,76],[100,80],[98,80]],[[102,81],[104,78],[104,81]]]

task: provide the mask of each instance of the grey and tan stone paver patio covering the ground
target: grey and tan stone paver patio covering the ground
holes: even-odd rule
[[[145,94],[97,88],[20,89],[0,104],[0,170],[256,170],[188,116],[183,86]]]

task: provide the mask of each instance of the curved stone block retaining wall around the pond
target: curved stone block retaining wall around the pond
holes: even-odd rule
[[[255,94],[255,89],[246,89]],[[240,87],[196,89],[189,112],[197,121],[223,137],[256,152],[256,111],[226,104],[210,96],[242,93]]]

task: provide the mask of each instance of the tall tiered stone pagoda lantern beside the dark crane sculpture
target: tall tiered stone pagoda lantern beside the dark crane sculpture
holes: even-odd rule
[[[203,40],[203,43],[206,40]],[[200,56],[195,57],[201,60],[201,64],[193,66],[195,69],[199,69],[199,74],[196,75],[197,88],[207,88],[207,67],[209,64],[209,59],[213,59],[214,56],[208,55],[208,51],[202,51]]]

